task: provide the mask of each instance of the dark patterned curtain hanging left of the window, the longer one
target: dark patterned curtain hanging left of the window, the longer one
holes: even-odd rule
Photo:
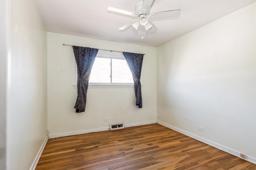
[[[89,84],[92,65],[95,61],[98,49],[73,46],[77,65],[77,99],[76,113],[84,111],[86,106],[86,94]]]

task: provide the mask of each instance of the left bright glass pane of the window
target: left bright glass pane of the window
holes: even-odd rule
[[[110,59],[96,57],[89,82],[110,83]]]

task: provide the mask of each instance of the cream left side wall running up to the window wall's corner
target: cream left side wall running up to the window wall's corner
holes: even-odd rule
[[[28,170],[46,138],[47,34],[33,0],[12,0],[11,16],[7,169]]]

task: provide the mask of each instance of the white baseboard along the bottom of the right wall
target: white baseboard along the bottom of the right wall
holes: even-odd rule
[[[174,130],[174,131],[180,132],[180,133],[182,133],[182,134],[184,134],[184,135],[186,135],[186,136],[192,137],[192,138],[194,138],[194,139],[196,139],[196,140],[198,140],[198,141],[201,141],[201,142],[203,142],[203,143],[206,143],[207,145],[210,145],[210,146],[215,147],[215,148],[217,148],[217,149],[220,149],[220,150],[223,150],[223,151],[225,151],[225,152],[228,152],[228,153],[230,153],[230,154],[232,154],[232,155],[234,155],[234,156],[237,156],[237,157],[239,157],[239,158],[241,158],[241,159],[244,159],[244,158],[240,157],[240,152],[237,151],[237,150],[234,150],[234,149],[225,147],[225,146],[220,145],[220,144],[218,144],[218,143],[212,142],[212,141],[210,141],[210,140],[208,140],[208,139],[204,139],[204,138],[202,138],[202,137],[200,137],[200,136],[194,135],[194,134],[192,134],[192,133],[189,133],[189,132],[187,132],[187,131],[184,131],[184,130],[182,130],[182,129],[179,129],[179,128],[177,128],[177,127],[174,127],[174,126],[172,126],[172,125],[168,125],[167,123],[164,123],[164,122],[161,122],[161,121],[157,121],[157,123],[160,124],[160,125],[163,125],[163,126],[165,126],[165,127],[168,127],[168,128],[170,128],[170,129],[172,129],[172,130]],[[248,162],[251,162],[251,163],[253,163],[253,164],[256,164],[256,158],[254,158],[254,157],[252,157],[252,156],[249,156],[249,155],[246,155],[246,156],[247,156],[247,158],[244,159],[244,160],[246,160],[246,161],[248,161]]]

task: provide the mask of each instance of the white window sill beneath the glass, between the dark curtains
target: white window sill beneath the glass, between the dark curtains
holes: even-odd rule
[[[77,88],[77,85],[73,85],[74,88]],[[133,83],[93,83],[89,84],[88,88],[134,88]]]

